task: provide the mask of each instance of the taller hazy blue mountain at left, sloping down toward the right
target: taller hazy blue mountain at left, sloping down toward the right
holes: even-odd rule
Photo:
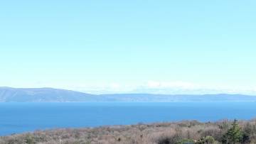
[[[95,96],[64,89],[0,87],[0,101],[93,101]]]

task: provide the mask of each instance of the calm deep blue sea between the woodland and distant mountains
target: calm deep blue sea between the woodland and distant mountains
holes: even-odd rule
[[[0,135],[51,128],[255,117],[255,102],[0,103]]]

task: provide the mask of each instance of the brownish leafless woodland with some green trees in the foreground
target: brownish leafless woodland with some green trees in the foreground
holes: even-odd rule
[[[0,137],[0,143],[236,144],[256,143],[256,120],[200,123],[139,123],[133,126],[58,129]]]

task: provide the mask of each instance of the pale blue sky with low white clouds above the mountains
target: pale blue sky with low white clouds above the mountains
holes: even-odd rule
[[[256,1],[0,1],[0,87],[256,94]]]

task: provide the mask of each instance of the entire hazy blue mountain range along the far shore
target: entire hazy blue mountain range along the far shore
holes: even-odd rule
[[[0,87],[0,102],[82,102],[82,101],[256,101],[242,94],[85,94],[53,88]]]

